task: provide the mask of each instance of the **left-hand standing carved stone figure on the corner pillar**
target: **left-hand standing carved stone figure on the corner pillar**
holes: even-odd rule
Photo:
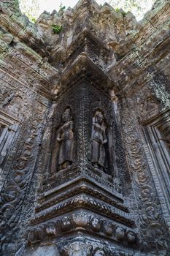
[[[71,109],[66,108],[62,116],[62,126],[58,129],[57,141],[58,149],[58,170],[65,169],[72,165],[74,132]]]

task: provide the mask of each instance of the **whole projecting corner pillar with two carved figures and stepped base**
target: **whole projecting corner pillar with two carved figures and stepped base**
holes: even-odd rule
[[[95,70],[90,72],[93,75]],[[104,74],[99,75],[101,83],[107,83]],[[60,244],[62,236],[88,241],[90,254],[104,253],[95,246],[96,239],[104,243],[107,237],[117,248],[123,244],[135,249],[138,244],[138,231],[124,197],[130,193],[131,178],[113,104],[100,83],[88,77],[90,73],[79,82],[74,78],[74,84],[60,92],[53,111],[49,148],[41,152],[45,161],[39,199],[27,236],[31,246]],[[115,149],[117,144],[124,156]],[[121,166],[117,164],[120,158]],[[67,239],[60,245],[61,255],[88,253],[79,243],[68,252]]]

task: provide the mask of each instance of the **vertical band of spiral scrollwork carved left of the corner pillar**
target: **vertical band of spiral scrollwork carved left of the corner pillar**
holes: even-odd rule
[[[18,103],[18,102],[17,102]],[[37,132],[43,121],[42,109],[37,106],[34,115],[30,121],[20,124],[20,132],[17,134],[16,143],[18,148],[12,148],[11,156],[4,165],[4,174],[6,179],[1,190],[1,248],[10,241],[12,229],[18,223],[22,203],[25,197],[28,183],[31,182],[31,169],[28,171],[28,165],[34,167],[36,157]],[[26,134],[29,127],[30,133]],[[23,139],[24,138],[24,139]]]

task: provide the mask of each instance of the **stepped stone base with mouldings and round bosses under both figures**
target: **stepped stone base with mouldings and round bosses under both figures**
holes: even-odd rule
[[[62,240],[77,238],[79,234],[85,241],[85,236],[96,237],[117,248],[121,245],[136,249],[139,244],[123,196],[85,174],[39,194],[26,236],[29,246],[45,246],[60,245]]]

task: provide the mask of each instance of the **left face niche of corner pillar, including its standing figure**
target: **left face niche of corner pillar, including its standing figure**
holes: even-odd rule
[[[80,117],[78,111],[81,104],[80,95],[80,88],[77,90],[72,89],[68,94],[63,95],[55,106],[51,117],[50,140],[53,145],[53,151],[50,153],[51,159],[48,159],[49,178],[58,173],[58,171],[68,168],[71,174],[70,167],[75,167],[77,161],[79,161],[77,156],[77,136],[79,135],[78,124]]]

